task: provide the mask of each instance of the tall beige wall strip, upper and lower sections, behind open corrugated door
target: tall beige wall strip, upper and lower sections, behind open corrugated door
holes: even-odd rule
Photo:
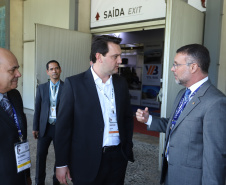
[[[69,29],[70,0],[24,0],[24,65],[23,79],[24,107],[34,109],[36,90],[35,74],[35,24],[43,24]],[[32,46],[32,48],[30,48]]]

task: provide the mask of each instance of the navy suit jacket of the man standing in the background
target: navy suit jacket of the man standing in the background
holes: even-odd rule
[[[39,131],[39,137],[44,136],[49,119],[49,109],[50,109],[49,83],[50,82],[46,82],[44,84],[39,85],[36,93],[33,130]],[[63,86],[64,82],[60,81],[59,91],[57,95],[56,111],[58,110],[60,95]]]

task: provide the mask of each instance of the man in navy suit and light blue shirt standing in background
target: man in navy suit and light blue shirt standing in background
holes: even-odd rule
[[[57,108],[64,84],[60,80],[61,67],[56,60],[51,60],[46,64],[46,73],[50,77],[50,81],[38,86],[32,132],[34,138],[38,139],[35,176],[35,183],[37,185],[45,184],[46,157],[52,141],[55,146],[54,136]],[[53,185],[58,184],[54,167]]]

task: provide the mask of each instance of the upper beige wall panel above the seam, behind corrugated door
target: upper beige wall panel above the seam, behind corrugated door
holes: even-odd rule
[[[70,0],[24,1],[24,41],[35,39],[35,24],[69,28]]]

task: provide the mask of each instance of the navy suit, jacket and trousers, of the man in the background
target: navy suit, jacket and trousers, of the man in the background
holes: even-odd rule
[[[59,91],[57,95],[56,112],[60,101],[60,95],[64,82],[60,81]],[[36,183],[43,184],[45,181],[46,157],[48,148],[55,136],[55,126],[48,123],[50,110],[50,82],[38,86],[35,100],[35,113],[33,120],[33,130],[39,131],[37,143],[37,159],[36,159]],[[57,181],[55,175],[53,181]]]

